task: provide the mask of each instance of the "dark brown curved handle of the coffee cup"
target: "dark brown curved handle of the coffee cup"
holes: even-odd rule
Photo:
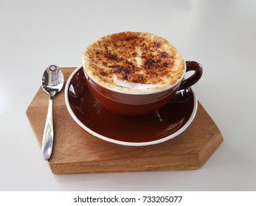
[[[186,65],[187,65],[186,72],[195,71],[195,73],[187,79],[182,79],[181,85],[179,86],[179,90],[190,88],[192,85],[198,82],[198,80],[201,78],[203,74],[203,68],[200,63],[197,63],[194,61],[186,61]]]

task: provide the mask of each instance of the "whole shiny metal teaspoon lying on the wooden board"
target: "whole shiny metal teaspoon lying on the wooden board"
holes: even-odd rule
[[[42,156],[44,160],[49,160],[52,154],[53,146],[53,115],[52,106],[55,95],[63,88],[64,77],[62,71],[57,65],[49,65],[44,71],[42,77],[42,88],[49,94],[49,107],[44,127],[44,136],[42,142]]]

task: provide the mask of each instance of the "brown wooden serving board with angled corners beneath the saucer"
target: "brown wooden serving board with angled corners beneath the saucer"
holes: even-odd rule
[[[75,68],[62,68],[65,81]],[[39,88],[27,108],[41,145],[49,96]],[[193,123],[176,138],[153,146],[120,146],[90,135],[66,109],[64,89],[54,100],[55,140],[49,166],[54,174],[198,169],[223,141],[218,127],[198,102]],[[43,158],[42,158],[43,161]]]

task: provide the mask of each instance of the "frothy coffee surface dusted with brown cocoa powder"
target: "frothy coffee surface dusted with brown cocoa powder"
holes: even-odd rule
[[[164,38],[121,32],[94,40],[83,53],[83,68],[94,82],[121,93],[154,93],[184,77],[185,63]]]

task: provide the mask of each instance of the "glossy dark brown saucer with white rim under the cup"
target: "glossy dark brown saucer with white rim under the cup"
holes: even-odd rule
[[[162,143],[181,134],[196,115],[193,88],[180,90],[164,107],[145,116],[121,116],[103,107],[86,85],[83,68],[69,77],[66,106],[72,118],[87,132],[105,141],[128,146]]]

